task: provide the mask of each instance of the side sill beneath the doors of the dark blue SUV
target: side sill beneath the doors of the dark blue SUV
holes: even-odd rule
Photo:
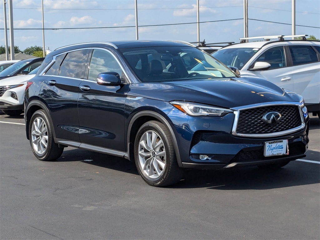
[[[86,143],[69,141],[69,140],[65,140],[65,139],[54,138],[54,142],[58,143],[58,144],[70,146],[70,147],[86,149],[89,151],[109,154],[109,155],[118,156],[118,157],[124,157],[126,155],[126,152],[122,152],[122,151],[118,151],[118,150],[114,150],[114,149],[110,149],[110,148],[93,146],[93,145],[86,144]]]

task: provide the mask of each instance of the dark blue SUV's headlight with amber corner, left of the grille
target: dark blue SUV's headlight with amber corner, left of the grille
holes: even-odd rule
[[[224,116],[233,111],[226,108],[218,108],[204,104],[193,102],[172,101],[170,102],[174,107],[178,108],[190,116]]]

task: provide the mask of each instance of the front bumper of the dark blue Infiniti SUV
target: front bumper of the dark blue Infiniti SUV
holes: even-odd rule
[[[176,130],[181,165],[184,168],[222,169],[292,161],[305,157],[308,149],[308,121],[296,132],[272,137],[244,137],[232,134],[235,115],[191,117],[173,110],[168,114]],[[264,143],[288,140],[289,155],[264,156]],[[206,159],[201,160],[200,155]]]

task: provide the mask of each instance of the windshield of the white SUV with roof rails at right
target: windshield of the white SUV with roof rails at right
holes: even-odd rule
[[[227,67],[241,70],[256,52],[257,48],[225,48],[212,53],[212,56]]]

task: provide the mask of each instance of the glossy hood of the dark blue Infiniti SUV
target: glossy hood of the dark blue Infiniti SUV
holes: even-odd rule
[[[257,83],[256,79],[245,77],[132,84],[128,95],[164,101],[191,101],[225,108],[274,101],[299,102],[295,93],[286,93],[266,80],[261,79]]]

